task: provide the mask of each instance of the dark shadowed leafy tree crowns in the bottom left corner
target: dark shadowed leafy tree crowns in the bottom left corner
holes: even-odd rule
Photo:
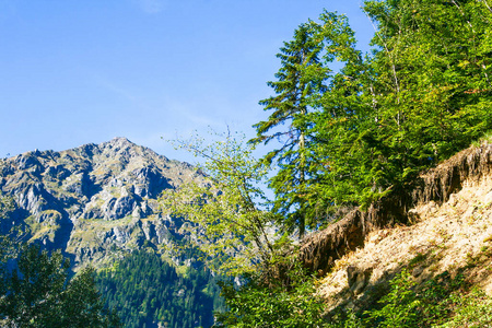
[[[69,280],[69,261],[36,245],[23,245],[16,267],[2,262],[0,318],[7,327],[119,327],[95,289],[92,269]]]

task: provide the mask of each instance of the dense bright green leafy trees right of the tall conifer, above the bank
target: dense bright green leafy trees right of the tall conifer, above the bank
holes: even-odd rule
[[[323,161],[311,207],[328,211],[411,189],[420,172],[492,128],[485,2],[365,1],[364,11],[377,26],[364,60],[348,24],[324,30],[336,45],[327,52],[343,63],[309,117]]]

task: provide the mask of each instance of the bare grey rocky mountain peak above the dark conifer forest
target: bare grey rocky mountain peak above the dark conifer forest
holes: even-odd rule
[[[0,163],[0,189],[17,207],[0,229],[16,226],[25,239],[61,248],[75,266],[144,243],[165,247],[179,237],[180,222],[157,211],[157,198],[189,180],[203,181],[203,175],[125,138],[27,152]]]

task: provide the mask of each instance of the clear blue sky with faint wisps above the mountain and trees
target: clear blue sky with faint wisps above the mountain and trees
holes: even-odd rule
[[[323,9],[373,34],[359,0],[0,0],[0,157],[208,126],[254,136],[282,42]]]

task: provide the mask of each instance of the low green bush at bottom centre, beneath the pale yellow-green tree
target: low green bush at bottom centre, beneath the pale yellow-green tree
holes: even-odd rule
[[[320,327],[323,300],[315,294],[314,279],[300,265],[289,268],[289,285],[282,280],[265,280],[248,274],[238,288],[222,283],[222,295],[229,306],[216,313],[219,327]]]

